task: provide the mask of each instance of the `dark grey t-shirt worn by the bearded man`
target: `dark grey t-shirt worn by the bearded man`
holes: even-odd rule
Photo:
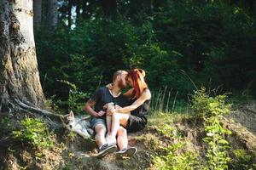
[[[129,100],[123,94],[120,94],[118,97],[114,98],[106,87],[97,89],[96,92],[92,95],[91,99],[96,102],[96,105],[94,106],[94,111],[96,112],[104,111],[103,106],[110,102],[113,102],[114,104],[121,107],[125,107],[129,103]],[[106,114],[97,118],[105,119]]]

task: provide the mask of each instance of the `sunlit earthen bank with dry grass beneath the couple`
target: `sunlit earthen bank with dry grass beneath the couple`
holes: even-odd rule
[[[245,150],[251,156],[249,164],[243,167],[253,167],[256,163],[256,102],[247,105],[237,105],[236,111],[222,119],[224,127],[232,134],[226,137],[232,150]],[[136,146],[137,154],[131,158],[119,158],[114,154],[98,159],[96,157],[95,141],[84,140],[75,133],[65,129],[55,131],[54,146],[51,149],[38,150],[30,144],[14,139],[12,131],[18,127],[20,119],[16,114],[11,119],[8,115],[0,116],[0,169],[155,169],[155,156],[166,154],[163,147],[186,143],[181,152],[192,151],[200,153],[201,159],[206,154],[206,144],[203,138],[206,134],[204,120],[189,115],[154,113],[149,117],[148,127],[143,131],[129,134],[129,144]],[[254,122],[254,123],[253,123]],[[161,128],[170,125],[166,136]],[[180,153],[177,153],[180,154]],[[254,156],[254,157],[253,157]],[[235,159],[235,158],[234,158]],[[236,163],[239,161],[236,159]],[[243,162],[247,163],[247,162]],[[235,164],[230,169],[236,169]],[[238,167],[237,167],[238,168]]]

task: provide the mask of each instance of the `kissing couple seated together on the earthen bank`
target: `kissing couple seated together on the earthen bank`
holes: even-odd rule
[[[151,94],[144,77],[142,69],[116,71],[113,83],[97,89],[85,104],[84,110],[93,116],[91,126],[96,132],[98,156],[106,156],[118,148],[119,155],[136,153],[136,147],[128,147],[126,132],[140,131],[148,122]],[[126,84],[131,89],[121,94]]]

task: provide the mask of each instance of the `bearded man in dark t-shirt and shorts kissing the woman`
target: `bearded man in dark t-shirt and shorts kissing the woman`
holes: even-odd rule
[[[89,113],[91,116],[94,116],[91,120],[91,126],[96,132],[95,139],[99,148],[98,156],[106,156],[108,153],[112,153],[117,150],[116,144],[109,145],[105,139],[107,127],[106,110],[104,108],[109,103],[114,103],[121,107],[128,105],[128,99],[126,99],[120,92],[121,89],[126,87],[126,75],[126,71],[116,71],[113,74],[113,88],[111,90],[106,87],[97,89],[95,94],[93,94],[84,106],[84,111]],[[127,148],[127,143],[126,130],[124,127],[119,127],[117,133],[117,144],[119,146],[119,150]]]

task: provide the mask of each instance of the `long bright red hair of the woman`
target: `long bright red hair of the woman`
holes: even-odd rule
[[[131,71],[128,71],[126,78],[131,78],[134,88],[131,96],[132,98],[139,98],[143,94],[144,89],[148,88],[148,85],[144,80],[145,76],[145,71],[143,71],[142,69],[133,69]]]

